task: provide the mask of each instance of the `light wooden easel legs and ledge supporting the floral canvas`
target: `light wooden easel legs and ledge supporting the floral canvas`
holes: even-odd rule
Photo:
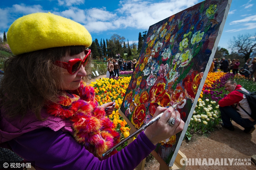
[[[133,132],[135,132],[137,129],[133,126],[133,124],[130,122],[130,120],[123,114],[123,112],[119,109],[118,110],[119,114],[123,117],[123,119],[127,122],[127,124],[131,127],[130,129],[130,134],[132,134]],[[132,141],[134,140],[134,138],[131,138],[127,145],[129,145]],[[169,167],[168,165],[166,165],[166,163],[164,162],[164,160],[162,160],[162,158],[160,158],[160,156],[156,153],[156,151],[152,151],[151,154],[156,158],[156,160],[160,163],[160,167],[159,170],[184,170],[186,165],[181,165],[180,164],[180,160],[183,158],[187,158],[180,150],[178,151],[178,154],[176,156],[175,162],[173,164],[172,167]],[[144,170],[145,167],[145,162],[146,162],[146,158],[144,160],[141,161],[141,163],[138,165],[137,169],[138,170]]]

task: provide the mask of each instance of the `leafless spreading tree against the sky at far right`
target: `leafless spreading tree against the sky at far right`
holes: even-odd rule
[[[233,37],[233,40],[230,41],[230,48],[243,54],[246,61],[256,51],[256,33],[254,35],[243,34]]]

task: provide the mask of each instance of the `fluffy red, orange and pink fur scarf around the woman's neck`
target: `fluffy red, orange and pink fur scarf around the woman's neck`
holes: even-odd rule
[[[48,114],[73,122],[77,143],[102,159],[102,154],[120,142],[120,135],[112,129],[112,122],[95,100],[94,88],[80,82],[80,88],[59,96],[59,103],[46,105]],[[110,155],[115,154],[113,151]]]

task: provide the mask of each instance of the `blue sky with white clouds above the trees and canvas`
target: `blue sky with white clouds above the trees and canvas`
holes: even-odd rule
[[[0,34],[20,16],[51,12],[84,25],[92,39],[118,34],[138,42],[139,32],[202,0],[12,0],[0,3]],[[218,46],[228,48],[233,36],[256,33],[256,0],[233,0]]]

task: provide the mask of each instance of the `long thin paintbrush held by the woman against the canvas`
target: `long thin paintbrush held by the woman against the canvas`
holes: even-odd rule
[[[173,105],[172,107],[175,109],[177,106],[177,104]],[[166,108],[166,107],[165,107]],[[158,116],[156,116],[155,118],[153,118],[152,120],[150,120],[147,124],[145,124],[144,126],[142,126],[141,128],[139,128],[137,131],[135,131],[134,133],[132,133],[130,136],[128,136],[127,138],[125,138],[123,141],[119,142],[117,145],[113,146],[111,149],[109,149],[107,152],[105,152],[104,154],[102,154],[102,156],[106,156],[108,155],[110,152],[112,152],[114,149],[116,149],[117,147],[121,146],[123,143],[125,143],[126,141],[128,141],[129,139],[131,139],[132,137],[134,137],[135,135],[137,135],[138,133],[142,132],[144,129],[146,129],[148,126],[152,125],[154,122],[156,122],[157,120],[160,119],[160,117],[164,114],[164,112],[158,114]]]

